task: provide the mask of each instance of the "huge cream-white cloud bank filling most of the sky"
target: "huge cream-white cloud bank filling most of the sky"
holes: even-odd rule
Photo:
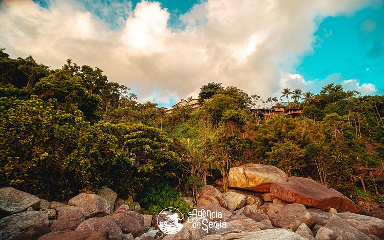
[[[168,106],[171,98],[197,96],[212,81],[265,97],[285,87],[299,55],[312,51],[323,18],[375,2],[207,0],[180,17],[183,29],[172,29],[167,9],[142,1],[135,9],[127,3],[130,13],[118,13],[121,28],[111,29],[102,20],[109,12],[97,16],[76,1],[52,0],[42,8],[32,0],[3,0],[0,47],[53,68],[67,58],[97,66],[141,100]],[[308,84],[295,79],[297,86]],[[368,85],[358,87],[369,91]]]

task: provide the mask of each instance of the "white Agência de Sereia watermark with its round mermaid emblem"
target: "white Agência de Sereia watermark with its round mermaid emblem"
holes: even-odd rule
[[[188,213],[189,217],[187,222],[192,223],[193,228],[201,228],[207,232],[211,228],[227,228],[227,222],[222,222],[222,213],[217,211],[205,209],[193,209]],[[181,219],[180,219],[181,217]],[[163,209],[157,216],[157,225],[159,229],[166,234],[176,234],[183,228],[183,224],[179,221],[184,219],[183,214],[174,207],[167,207]],[[218,221],[210,221],[218,220]]]

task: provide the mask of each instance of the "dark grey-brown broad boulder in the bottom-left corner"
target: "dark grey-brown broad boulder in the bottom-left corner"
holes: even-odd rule
[[[48,216],[39,211],[16,213],[0,220],[0,239],[7,240],[33,227],[48,228]]]

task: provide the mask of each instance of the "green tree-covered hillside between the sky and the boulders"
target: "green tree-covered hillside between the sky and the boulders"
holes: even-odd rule
[[[143,189],[174,187],[196,197],[219,179],[226,188],[230,167],[260,163],[367,207],[383,203],[384,96],[335,84],[318,93],[281,94],[262,100],[253,90],[211,82],[201,87],[198,110],[187,105],[167,114],[155,103],[136,102],[129,88],[98,68],[67,60],[52,70],[2,49],[0,184],[49,200],[107,185],[157,209],[151,199],[162,204],[165,197],[143,196]],[[286,104],[302,113],[259,117],[254,111]]]

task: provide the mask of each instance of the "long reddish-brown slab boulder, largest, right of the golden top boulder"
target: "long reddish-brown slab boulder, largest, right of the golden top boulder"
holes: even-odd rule
[[[322,210],[335,208],[353,213],[362,212],[352,200],[340,192],[307,178],[289,177],[287,183],[272,183],[270,192],[275,198],[288,203],[301,203]]]

